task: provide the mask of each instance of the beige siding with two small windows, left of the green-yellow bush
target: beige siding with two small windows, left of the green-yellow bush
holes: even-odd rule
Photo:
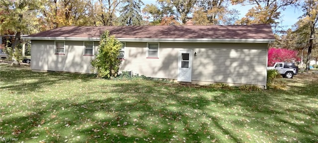
[[[97,53],[98,42],[94,42]],[[54,41],[32,40],[32,70],[90,73],[94,56],[83,56],[83,41],[65,41],[65,55],[56,55]]]

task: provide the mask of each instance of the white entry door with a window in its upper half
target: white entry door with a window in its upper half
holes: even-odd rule
[[[192,50],[179,51],[178,81],[191,82]]]

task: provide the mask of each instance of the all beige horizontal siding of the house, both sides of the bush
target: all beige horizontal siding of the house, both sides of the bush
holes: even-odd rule
[[[97,53],[98,42],[94,42]],[[54,41],[32,40],[32,70],[91,72],[95,56],[83,56],[83,41],[65,41],[56,55]],[[266,84],[267,44],[159,43],[159,58],[147,58],[147,42],[126,42],[120,71],[154,78],[177,79],[179,50],[192,50],[192,81]]]

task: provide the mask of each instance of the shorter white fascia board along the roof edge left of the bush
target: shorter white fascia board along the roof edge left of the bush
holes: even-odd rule
[[[100,41],[95,37],[22,37],[26,40],[62,40],[62,41]]]

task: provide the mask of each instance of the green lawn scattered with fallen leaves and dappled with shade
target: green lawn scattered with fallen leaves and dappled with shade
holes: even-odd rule
[[[240,91],[0,68],[2,141],[318,142],[314,73],[284,79],[287,90]]]

